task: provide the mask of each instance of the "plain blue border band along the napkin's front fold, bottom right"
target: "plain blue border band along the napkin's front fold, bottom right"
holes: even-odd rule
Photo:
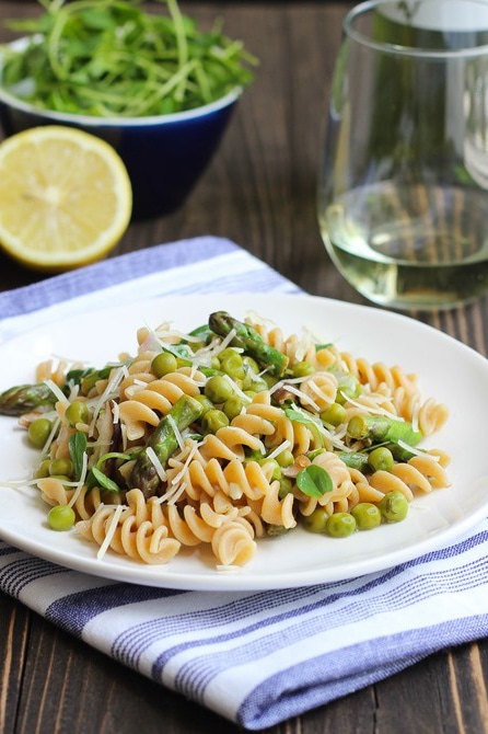
[[[486,633],[487,618],[478,615],[345,645],[339,654],[326,653],[267,678],[242,702],[237,722],[253,731],[272,726]]]

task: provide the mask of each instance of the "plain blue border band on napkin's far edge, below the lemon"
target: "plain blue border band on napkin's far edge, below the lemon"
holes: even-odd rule
[[[208,261],[239,250],[231,240],[214,237],[198,237],[136,250],[0,294],[1,318],[32,313],[149,273]]]

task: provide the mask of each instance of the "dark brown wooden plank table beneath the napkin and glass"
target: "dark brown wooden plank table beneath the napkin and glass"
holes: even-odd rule
[[[340,24],[349,3],[183,2],[202,25],[260,57],[223,145],[186,205],[133,223],[114,254],[205,233],[228,237],[317,296],[362,299],[328,260],[315,216],[318,150]],[[0,2],[0,19],[35,2]],[[11,34],[0,31],[1,39]],[[164,175],[164,172],[162,172]],[[0,287],[33,283],[0,255]],[[426,321],[486,354],[486,299]],[[0,595],[3,734],[190,734],[233,724],[147,680]],[[445,650],[403,673],[276,726],[274,734],[488,732],[488,641]]]

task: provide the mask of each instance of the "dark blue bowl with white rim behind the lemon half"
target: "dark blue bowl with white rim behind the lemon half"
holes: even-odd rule
[[[216,152],[241,89],[187,112],[154,117],[90,117],[39,110],[0,89],[7,137],[39,125],[67,125],[103,138],[118,152],[132,184],[132,219],[174,211]]]

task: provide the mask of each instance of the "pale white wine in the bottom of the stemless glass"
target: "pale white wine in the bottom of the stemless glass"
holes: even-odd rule
[[[487,192],[383,182],[321,208],[333,262],[375,303],[443,309],[488,290]]]

